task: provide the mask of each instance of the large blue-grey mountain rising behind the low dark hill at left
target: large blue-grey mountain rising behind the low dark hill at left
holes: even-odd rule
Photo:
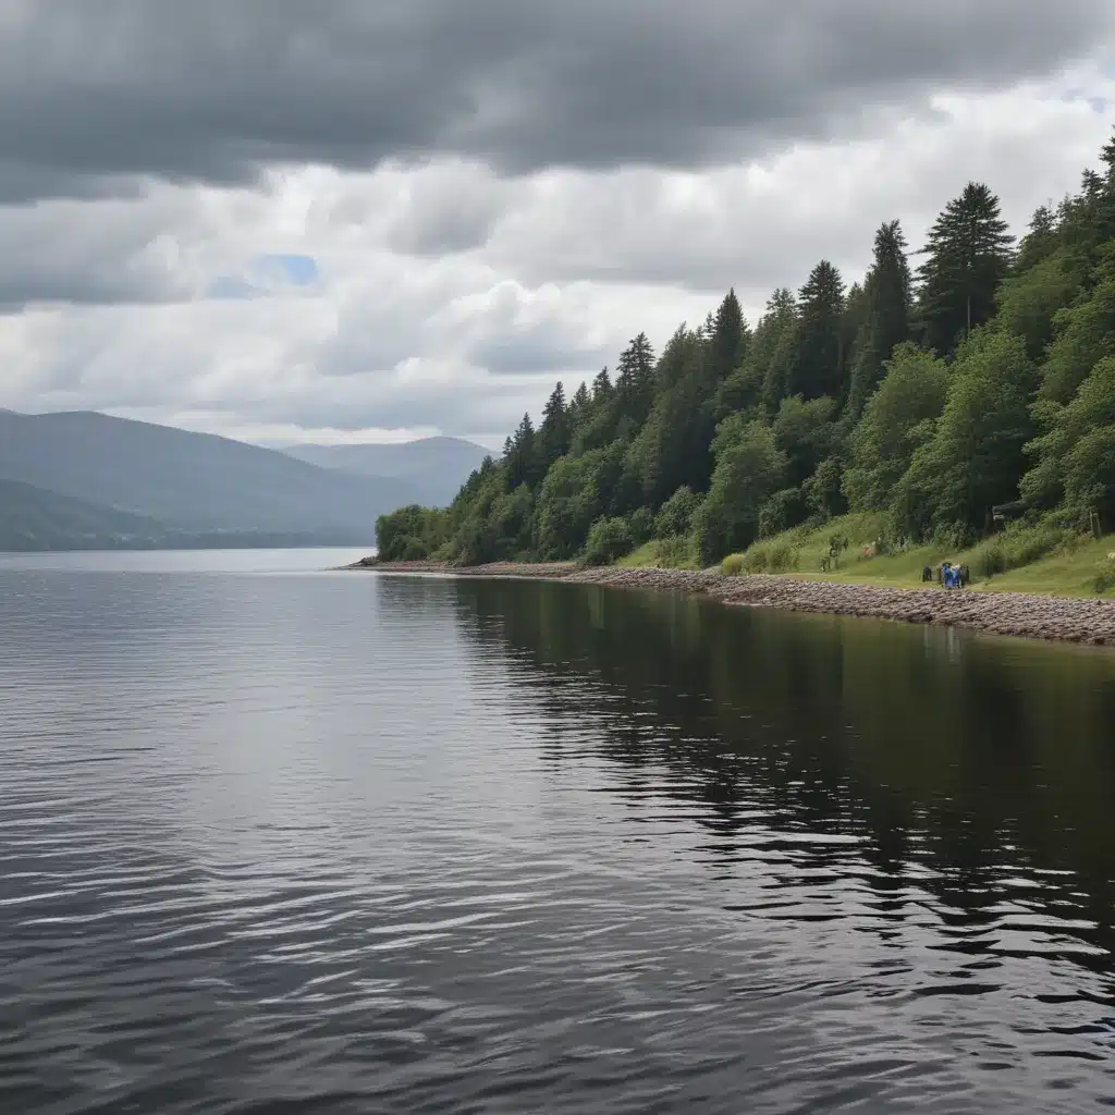
[[[419,496],[405,479],[357,476],[284,453],[94,411],[0,413],[0,479],[171,532],[372,541],[377,515]],[[25,493],[26,495],[26,493]]]

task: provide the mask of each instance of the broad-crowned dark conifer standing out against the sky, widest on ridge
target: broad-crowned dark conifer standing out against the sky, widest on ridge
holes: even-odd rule
[[[1014,236],[999,198],[978,182],[944,207],[933,223],[928,256],[918,270],[918,316],[927,348],[951,355],[995,313],[995,294],[1011,263]]]

